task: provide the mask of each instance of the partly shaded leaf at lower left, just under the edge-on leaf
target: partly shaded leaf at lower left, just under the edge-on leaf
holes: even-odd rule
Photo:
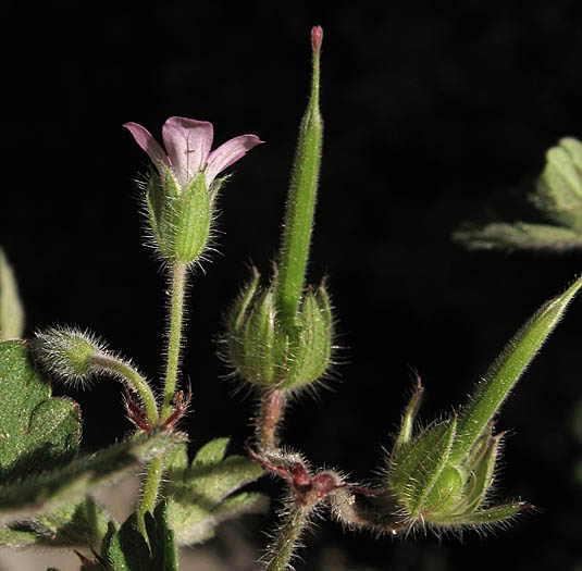
[[[99,551],[111,517],[91,496],[0,527],[0,547],[81,547]]]

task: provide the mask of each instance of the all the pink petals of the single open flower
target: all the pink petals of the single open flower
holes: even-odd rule
[[[123,125],[148,153],[162,181],[168,166],[181,188],[186,188],[200,171],[205,171],[207,188],[227,166],[243,158],[252,147],[263,142],[256,135],[239,135],[210,152],[214,129],[208,121],[170,117],[163,125],[165,151],[150,132],[137,123]]]

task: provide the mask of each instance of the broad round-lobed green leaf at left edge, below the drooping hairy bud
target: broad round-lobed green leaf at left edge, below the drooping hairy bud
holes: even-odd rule
[[[50,395],[26,344],[0,343],[0,483],[64,466],[76,455],[79,407]]]

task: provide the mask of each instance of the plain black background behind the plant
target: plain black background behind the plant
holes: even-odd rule
[[[582,131],[582,5],[542,2],[12,3],[4,13],[0,241],[15,266],[28,333],[55,323],[102,335],[150,377],[161,371],[166,280],[141,244],[134,179],[147,157],[121,125],[157,137],[170,115],[211,121],[215,144],[265,145],[232,171],[220,255],[191,281],[184,426],[194,447],[232,435],[240,451],[253,400],[221,381],[213,338],[277,246],[312,25],[324,27],[324,156],[310,281],[329,275],[340,382],[288,411],[285,442],[314,466],[366,480],[418,370],[428,422],[460,404],[518,326],[580,271],[580,255],[468,252],[467,220],[528,214],[544,151]],[[525,209],[525,210],[523,210]],[[580,558],[573,477],[580,300],[507,402],[499,498],[541,509],[509,531],[462,543],[375,541],[320,522],[298,570],[571,569]],[[119,385],[65,390],[84,411],[84,446],[120,438]],[[274,482],[262,487],[280,493]],[[267,520],[248,520],[249,538]],[[227,549],[224,541],[216,548]],[[342,568],[343,569],[343,568]],[[332,570],[333,571],[333,570]]]

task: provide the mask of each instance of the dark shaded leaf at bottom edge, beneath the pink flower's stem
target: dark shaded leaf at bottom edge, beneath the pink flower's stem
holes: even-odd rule
[[[162,500],[156,506],[153,516],[145,514],[146,530],[150,545],[137,527],[137,516],[133,513],[111,537],[103,557],[111,571],[177,571],[177,549],[172,525],[172,500]]]

